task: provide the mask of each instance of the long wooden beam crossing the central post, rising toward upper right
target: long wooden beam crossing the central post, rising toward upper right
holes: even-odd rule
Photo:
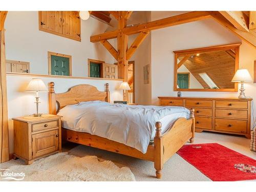
[[[210,14],[208,11],[192,11],[192,12],[188,12],[180,15],[175,15],[172,17],[155,20],[153,22],[148,22],[146,24],[140,24],[133,27],[125,27],[123,29],[109,31],[99,35],[93,35],[91,36],[90,40],[91,42],[98,42],[103,39],[116,38],[119,33],[132,35],[132,34],[140,33],[143,31],[161,29],[161,28],[185,24],[189,22],[195,22],[196,20],[201,20],[205,18],[210,18]]]

